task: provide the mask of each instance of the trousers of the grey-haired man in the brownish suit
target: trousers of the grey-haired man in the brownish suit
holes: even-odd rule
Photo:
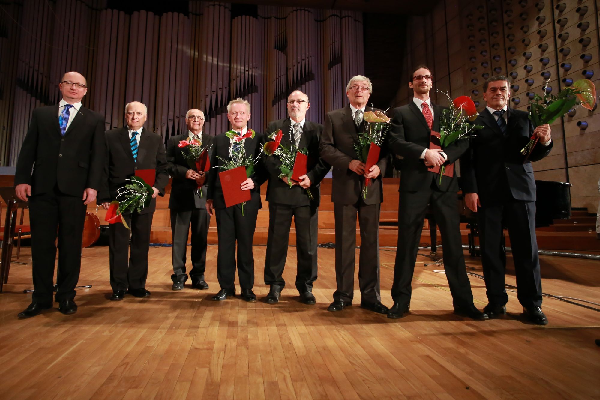
[[[361,228],[358,285],[362,302],[380,302],[379,290],[379,212],[381,204],[334,203],[335,281],[334,300],[352,302],[356,264],[356,215]]]

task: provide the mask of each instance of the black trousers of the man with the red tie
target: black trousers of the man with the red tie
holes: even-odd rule
[[[473,304],[473,293],[464,264],[460,236],[458,195],[433,188],[421,191],[401,191],[398,205],[398,245],[394,264],[392,299],[401,309],[410,304],[411,282],[427,205],[431,204],[442,234],[444,270],[454,306]]]

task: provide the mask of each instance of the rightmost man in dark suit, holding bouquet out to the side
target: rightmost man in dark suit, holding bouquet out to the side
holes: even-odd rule
[[[550,126],[533,129],[529,113],[507,106],[511,97],[508,78],[494,76],[484,84],[487,107],[475,121],[483,125],[470,139],[469,151],[460,160],[467,207],[477,212],[485,288],[490,317],[506,314],[508,295],[504,285],[506,252],[503,227],[511,238],[517,274],[517,298],[526,317],[545,325],[538,242],[535,236],[535,179],[531,161],[546,157],[553,146]],[[528,160],[521,149],[530,137],[539,143]]]

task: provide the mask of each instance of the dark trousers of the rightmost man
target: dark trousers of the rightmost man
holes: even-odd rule
[[[541,306],[542,279],[535,235],[535,201],[506,199],[493,205],[482,202],[477,219],[485,288],[490,303],[502,306],[508,302],[504,285],[506,252],[502,248],[505,225],[511,238],[517,298],[524,307]]]

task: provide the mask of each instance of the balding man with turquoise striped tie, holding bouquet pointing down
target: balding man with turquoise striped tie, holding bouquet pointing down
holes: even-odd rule
[[[154,169],[152,202],[140,212],[124,213],[130,229],[122,224],[109,225],[110,300],[122,300],[125,293],[135,297],[150,296],[146,290],[148,276],[148,250],[152,216],[156,209],[156,196],[164,196],[164,187],[169,183],[167,160],[163,138],[143,129],[148,118],[148,109],[133,101],[125,106],[127,126],[106,132],[107,160],[104,164],[104,188],[100,196],[104,209],[112,200],[123,200],[118,190],[125,187],[127,178],[137,170]],[[131,236],[131,255],[127,259]]]

